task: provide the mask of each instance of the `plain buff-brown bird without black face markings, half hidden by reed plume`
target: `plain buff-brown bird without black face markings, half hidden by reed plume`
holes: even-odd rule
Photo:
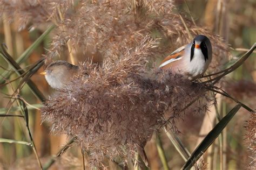
[[[62,89],[68,84],[72,77],[78,73],[78,66],[72,65],[69,62],[58,60],[50,63],[44,72],[48,84],[54,89]]]

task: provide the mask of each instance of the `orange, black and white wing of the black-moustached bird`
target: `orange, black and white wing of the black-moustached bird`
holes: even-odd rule
[[[180,48],[178,48],[180,49]],[[176,51],[172,52],[169,56],[167,56],[160,64],[159,68],[168,69],[171,66],[178,64],[176,61],[183,58],[184,54],[184,48],[181,49],[181,51],[178,52],[178,49]]]

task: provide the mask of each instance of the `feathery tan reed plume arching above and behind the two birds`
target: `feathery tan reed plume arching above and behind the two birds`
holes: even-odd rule
[[[130,1],[102,1],[80,6],[76,13],[60,23],[48,55],[62,54],[64,46],[60,42],[70,40],[74,48],[85,47],[84,58],[86,47],[90,47],[93,54],[99,52],[105,60],[114,61],[127,47],[134,47],[152,31],[160,33],[161,42],[171,42],[167,46],[159,45],[155,49],[157,56],[162,56],[163,52],[172,52],[191,41],[190,33],[179,15],[171,12],[172,2],[139,2],[136,7]],[[205,34],[211,39],[213,62],[210,68],[220,69],[219,66],[226,63],[227,56],[230,56],[223,39],[204,27],[194,26],[190,20],[186,20],[186,24],[193,36]]]

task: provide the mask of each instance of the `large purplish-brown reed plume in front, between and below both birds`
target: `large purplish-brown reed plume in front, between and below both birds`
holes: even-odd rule
[[[79,76],[44,104],[43,120],[50,121],[55,132],[77,136],[96,166],[104,155],[131,159],[137,146],[144,147],[165,124],[164,118],[174,123],[194,96],[206,94],[200,83],[182,75],[156,69],[153,76],[145,76],[154,47],[156,42],[146,37],[116,63],[84,63]],[[206,109],[207,102],[198,102],[198,108]]]

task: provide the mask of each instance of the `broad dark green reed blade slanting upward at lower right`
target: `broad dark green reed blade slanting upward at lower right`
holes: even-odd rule
[[[228,114],[223,117],[220,122],[207,134],[203,141],[197,146],[196,150],[191,154],[190,158],[186,161],[185,165],[181,169],[190,169],[196,161],[204,154],[213,141],[219,136],[221,131],[226,127],[227,123],[233,118],[237,111],[241,108],[241,105],[236,105]]]

